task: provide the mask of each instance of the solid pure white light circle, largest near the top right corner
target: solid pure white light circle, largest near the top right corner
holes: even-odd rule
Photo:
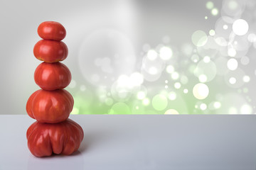
[[[233,23],[233,32],[236,35],[245,35],[248,30],[249,30],[249,26],[247,21],[243,20],[243,19],[238,19]]]

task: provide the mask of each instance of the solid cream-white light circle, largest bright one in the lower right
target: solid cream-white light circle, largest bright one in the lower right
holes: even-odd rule
[[[195,96],[195,98],[198,98],[199,100],[207,98],[208,94],[209,89],[206,84],[199,83],[193,87],[193,96]]]

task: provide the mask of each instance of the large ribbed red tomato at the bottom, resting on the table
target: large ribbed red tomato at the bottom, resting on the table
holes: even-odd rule
[[[26,132],[28,149],[36,157],[51,154],[73,154],[84,137],[82,128],[73,120],[62,123],[33,123]]]

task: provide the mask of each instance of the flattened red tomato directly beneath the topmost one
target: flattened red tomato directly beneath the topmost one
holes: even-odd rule
[[[44,62],[59,62],[68,56],[68,47],[62,41],[40,40],[34,46],[33,54]]]

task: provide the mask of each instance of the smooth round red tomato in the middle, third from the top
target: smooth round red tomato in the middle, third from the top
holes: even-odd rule
[[[64,89],[71,81],[71,73],[65,64],[60,62],[42,62],[36,68],[34,79],[44,90]]]

